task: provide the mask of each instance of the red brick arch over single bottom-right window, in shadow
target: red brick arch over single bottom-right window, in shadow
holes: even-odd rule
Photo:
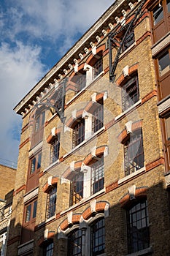
[[[148,187],[136,187],[133,199],[139,199],[140,197],[146,197],[147,189],[148,189]],[[125,195],[123,195],[123,197],[120,198],[119,203],[122,208],[125,206],[128,206],[128,204],[131,203],[130,193],[128,192]]]

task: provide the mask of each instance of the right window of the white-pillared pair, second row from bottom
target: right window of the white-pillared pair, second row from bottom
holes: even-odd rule
[[[91,195],[104,188],[104,157],[91,166]]]

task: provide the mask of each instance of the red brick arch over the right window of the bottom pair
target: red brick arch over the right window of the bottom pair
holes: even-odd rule
[[[96,202],[96,205],[94,208],[91,206],[88,206],[88,208],[85,209],[85,211],[82,212],[82,218],[85,220],[90,219],[90,217],[93,216],[93,214],[98,214],[100,212],[107,211],[109,207],[109,204],[107,201],[98,201]]]

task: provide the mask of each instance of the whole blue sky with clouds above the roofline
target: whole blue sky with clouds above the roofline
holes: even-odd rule
[[[112,0],[1,0],[0,164],[16,166],[21,116],[13,108]]]

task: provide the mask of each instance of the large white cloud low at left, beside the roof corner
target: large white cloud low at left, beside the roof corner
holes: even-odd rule
[[[21,42],[17,42],[17,47],[12,49],[7,43],[1,45],[1,158],[15,159],[16,162],[21,118],[12,109],[45,72],[39,62],[39,54],[40,48],[26,46]]]

